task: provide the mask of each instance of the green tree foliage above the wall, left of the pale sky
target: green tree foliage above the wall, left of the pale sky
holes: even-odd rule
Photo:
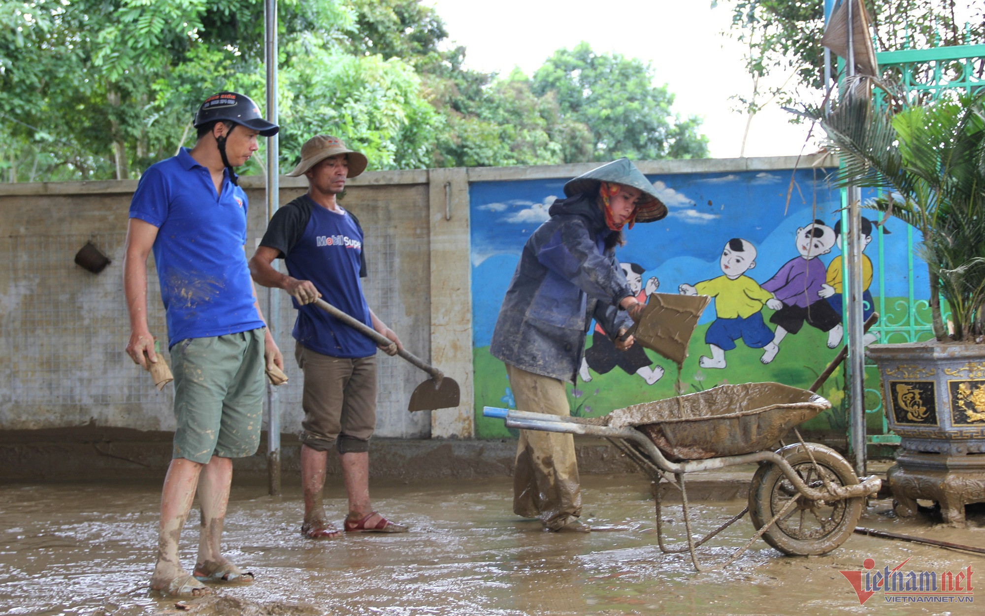
[[[0,0],[5,179],[135,177],[194,143],[209,94],[263,106],[263,10],[262,0]],[[278,19],[282,171],[325,132],[370,168],[706,155],[697,120],[673,116],[673,95],[634,60],[583,45],[532,79],[468,70],[421,0],[281,0]],[[570,61],[600,67],[599,96],[561,97]],[[262,164],[254,156],[243,172]]]

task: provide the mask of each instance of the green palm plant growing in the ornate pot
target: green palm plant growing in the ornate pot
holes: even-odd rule
[[[821,117],[841,186],[882,189],[865,207],[923,234],[939,340],[985,335],[985,95],[876,108],[870,82],[855,81]],[[945,327],[940,297],[952,314]]]

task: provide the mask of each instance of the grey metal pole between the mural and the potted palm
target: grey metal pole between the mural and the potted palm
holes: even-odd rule
[[[848,57],[846,72],[848,87],[854,87],[851,78],[855,76],[855,0],[847,0],[845,9],[848,18]],[[866,474],[866,433],[865,433],[865,325],[862,318],[862,189],[848,187],[848,233],[845,255],[848,264],[848,279],[842,292],[848,293],[848,378],[851,412],[852,450],[855,454],[855,473]]]

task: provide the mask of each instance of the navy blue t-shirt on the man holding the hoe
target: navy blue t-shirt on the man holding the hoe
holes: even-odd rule
[[[292,277],[310,280],[325,301],[372,327],[362,294],[366,265],[356,216],[342,208],[332,212],[301,195],[274,214],[260,245],[279,251]],[[372,340],[311,304],[293,302],[297,321],[292,335],[305,347],[333,357],[375,354]]]

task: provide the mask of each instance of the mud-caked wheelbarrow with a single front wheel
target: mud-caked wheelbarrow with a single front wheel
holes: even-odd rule
[[[817,443],[804,443],[799,432],[799,443],[771,449],[790,429],[796,431],[795,426],[830,407],[830,402],[809,390],[747,383],[634,404],[603,417],[564,417],[492,406],[486,406],[483,414],[505,419],[509,428],[609,439],[653,482],[661,551],[688,551],[694,569],[707,571],[716,567],[702,567],[695,548],[747,513],[755,534],[719,567],[732,564],[758,537],[785,554],[808,556],[826,554],[852,534],[866,497],[879,491],[881,480],[871,476],[860,481],[840,454]],[[695,539],[686,476],[751,462],[758,462],[759,467],[750,486],[748,507]],[[675,480],[670,481],[665,473],[673,474]],[[681,491],[686,547],[669,547],[664,542],[660,489],[664,480]]]

